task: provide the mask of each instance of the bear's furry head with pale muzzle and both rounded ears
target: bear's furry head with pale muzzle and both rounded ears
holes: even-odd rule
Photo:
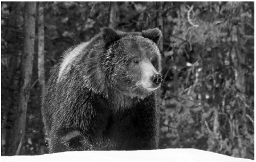
[[[109,86],[139,98],[145,98],[159,88],[162,76],[157,43],[161,36],[158,28],[141,33],[104,28],[102,38],[106,52],[102,63]]]

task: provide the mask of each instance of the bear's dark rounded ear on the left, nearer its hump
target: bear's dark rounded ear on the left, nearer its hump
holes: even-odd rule
[[[120,39],[120,36],[118,35],[118,33],[116,33],[116,31],[110,28],[102,29],[102,37],[107,46],[113,43],[114,41],[117,41],[118,39]]]

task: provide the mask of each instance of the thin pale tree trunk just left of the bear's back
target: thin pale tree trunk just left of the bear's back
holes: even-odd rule
[[[38,80],[41,90],[45,88],[45,31],[43,2],[38,2]]]

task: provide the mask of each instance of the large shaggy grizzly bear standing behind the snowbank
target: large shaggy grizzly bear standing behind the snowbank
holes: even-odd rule
[[[49,152],[157,148],[158,28],[103,28],[64,52],[42,95]]]

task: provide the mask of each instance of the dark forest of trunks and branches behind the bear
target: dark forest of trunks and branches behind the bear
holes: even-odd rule
[[[163,37],[159,148],[254,159],[253,2],[2,2],[2,155],[48,153],[40,96],[62,52],[100,28]]]

